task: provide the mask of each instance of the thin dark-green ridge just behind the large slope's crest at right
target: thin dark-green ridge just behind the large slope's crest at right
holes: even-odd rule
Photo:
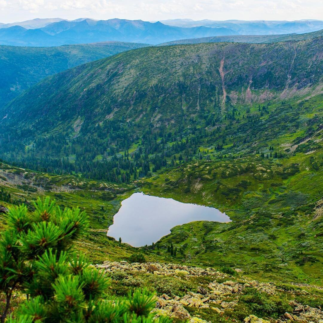
[[[160,44],[164,45],[182,45],[182,44],[199,44],[199,43],[222,43],[222,42],[234,42],[234,43],[254,43],[254,44],[270,44],[278,43],[282,41],[299,41],[306,39],[313,39],[323,36],[323,29],[305,34],[287,34],[287,35],[236,35],[236,36],[215,36],[215,37],[203,37],[192,39],[180,39],[174,40],[168,43]]]

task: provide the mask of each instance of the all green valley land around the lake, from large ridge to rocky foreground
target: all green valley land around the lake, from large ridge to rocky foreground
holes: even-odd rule
[[[44,79],[0,109],[0,205],[87,211],[74,249],[109,275],[104,299],[147,287],[175,323],[320,323],[322,39],[139,48]],[[141,191],[232,222],[107,238]]]

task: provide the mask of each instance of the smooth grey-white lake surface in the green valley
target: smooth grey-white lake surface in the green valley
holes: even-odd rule
[[[171,233],[174,226],[193,221],[231,222],[225,213],[213,207],[134,193],[121,202],[107,235],[141,247]]]

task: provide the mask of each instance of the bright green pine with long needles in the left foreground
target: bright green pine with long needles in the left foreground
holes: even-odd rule
[[[153,319],[153,294],[145,289],[115,305],[100,299],[108,287],[107,277],[90,268],[84,255],[70,251],[89,226],[85,212],[61,210],[48,197],[38,198],[34,207],[32,214],[24,204],[11,207],[6,215],[8,229],[0,242],[0,289],[6,297],[1,322],[17,291],[27,299],[8,323],[170,322]]]

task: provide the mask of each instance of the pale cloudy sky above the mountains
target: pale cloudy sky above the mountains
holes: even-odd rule
[[[0,0],[0,22],[34,18],[323,20],[318,0]]]

